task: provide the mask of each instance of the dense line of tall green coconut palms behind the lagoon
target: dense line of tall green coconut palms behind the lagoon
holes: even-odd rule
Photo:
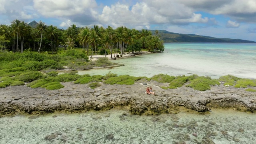
[[[164,51],[164,42],[156,31],[156,35],[148,30],[135,30],[120,26],[116,29],[108,26],[94,25],[93,28],[78,28],[69,26],[66,30],[56,26],[46,26],[40,21],[36,28],[30,27],[20,20],[12,21],[11,25],[0,25],[0,48],[12,52],[51,51],[52,54],[59,47],[73,49],[82,47],[84,52],[91,50],[92,55],[98,51],[109,50],[114,57],[125,52],[136,52],[146,49],[148,51]]]

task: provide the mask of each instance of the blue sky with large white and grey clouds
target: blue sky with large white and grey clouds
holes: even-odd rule
[[[256,0],[0,0],[0,24],[15,19],[256,41]]]

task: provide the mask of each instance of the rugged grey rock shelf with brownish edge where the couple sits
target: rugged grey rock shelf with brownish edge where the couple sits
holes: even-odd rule
[[[86,84],[62,82],[60,90],[9,86],[0,88],[0,115],[48,114],[53,112],[86,112],[125,108],[131,114],[155,115],[186,112],[209,112],[211,108],[227,108],[244,112],[255,112],[256,94],[244,88],[211,86],[211,90],[198,91],[182,86],[164,90],[154,81],[137,81],[133,85],[108,85],[101,83],[95,90]],[[152,86],[156,95],[145,93]]]

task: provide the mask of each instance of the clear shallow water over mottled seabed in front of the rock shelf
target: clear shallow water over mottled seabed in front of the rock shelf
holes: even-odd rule
[[[213,110],[210,114],[130,115],[124,110],[0,118],[1,144],[255,144],[255,114]]]

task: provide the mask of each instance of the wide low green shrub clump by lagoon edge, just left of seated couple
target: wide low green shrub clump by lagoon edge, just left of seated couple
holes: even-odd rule
[[[105,84],[126,84],[126,85],[132,85],[132,84],[134,84],[134,80],[129,75],[122,75],[122,76],[118,76],[118,77],[108,78],[103,83],[105,83]]]

